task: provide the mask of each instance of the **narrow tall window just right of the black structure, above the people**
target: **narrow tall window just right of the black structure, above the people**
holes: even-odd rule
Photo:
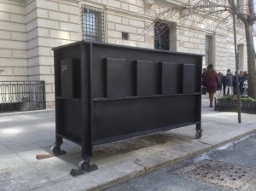
[[[206,35],[206,66],[214,65],[214,39],[212,34]]]

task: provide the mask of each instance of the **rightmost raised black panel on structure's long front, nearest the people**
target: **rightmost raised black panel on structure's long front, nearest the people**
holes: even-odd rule
[[[183,64],[183,94],[195,93],[195,66]]]

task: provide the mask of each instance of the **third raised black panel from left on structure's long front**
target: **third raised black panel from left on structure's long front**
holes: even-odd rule
[[[177,93],[177,65],[172,62],[160,63],[160,93],[164,96]]]

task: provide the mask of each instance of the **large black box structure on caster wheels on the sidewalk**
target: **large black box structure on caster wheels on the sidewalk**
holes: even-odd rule
[[[202,55],[81,41],[54,48],[55,147],[93,145],[196,124],[201,137]]]

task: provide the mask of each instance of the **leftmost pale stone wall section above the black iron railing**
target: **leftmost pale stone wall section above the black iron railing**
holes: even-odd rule
[[[8,0],[0,3],[0,81],[27,80],[24,3]]]

